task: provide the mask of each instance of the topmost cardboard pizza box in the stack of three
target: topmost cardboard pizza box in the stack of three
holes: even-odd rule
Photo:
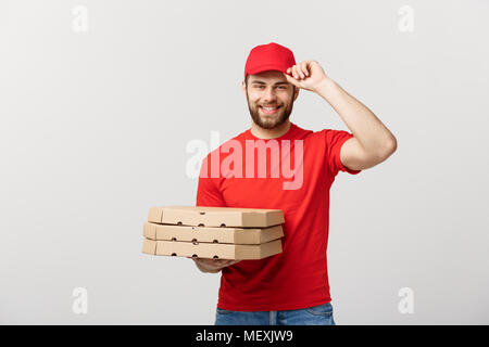
[[[280,209],[166,206],[152,207],[148,221],[193,227],[267,228],[285,222]]]

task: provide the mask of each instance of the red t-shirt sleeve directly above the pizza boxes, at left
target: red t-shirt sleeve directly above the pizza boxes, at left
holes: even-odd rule
[[[209,175],[210,170],[208,170],[208,160],[210,160],[209,155],[203,159],[200,168],[196,206],[226,207],[223,194],[217,188],[218,178],[213,178]]]

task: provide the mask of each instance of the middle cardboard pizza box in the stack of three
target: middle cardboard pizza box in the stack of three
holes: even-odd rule
[[[281,226],[268,228],[212,228],[145,222],[142,234],[161,241],[261,244],[284,236]]]

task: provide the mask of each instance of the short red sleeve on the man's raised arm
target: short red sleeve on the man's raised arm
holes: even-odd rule
[[[353,134],[344,130],[325,129],[324,137],[326,141],[326,163],[333,177],[339,171],[356,175],[362,170],[352,170],[346,167],[340,159],[340,150],[343,143],[353,138]]]

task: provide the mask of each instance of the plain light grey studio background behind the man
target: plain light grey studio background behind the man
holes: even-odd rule
[[[73,30],[75,5],[88,31]],[[399,9],[414,9],[402,33]],[[0,323],[213,324],[221,274],[141,254],[149,207],[193,204],[189,141],[251,120],[271,41],[316,60],[398,139],[331,189],[338,324],[488,324],[488,1],[0,2]],[[291,120],[349,130],[301,90]],[[75,287],[88,313],[75,314]],[[398,292],[414,292],[401,314]]]

